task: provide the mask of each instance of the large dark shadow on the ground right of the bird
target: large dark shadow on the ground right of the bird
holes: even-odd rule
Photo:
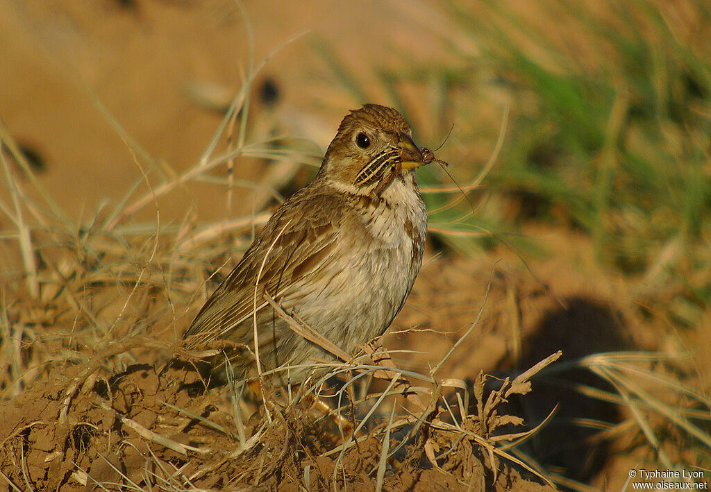
[[[562,358],[552,366],[594,353],[630,350],[622,315],[601,301],[573,297],[565,308],[548,312],[523,342],[519,370],[530,368],[555,351]],[[528,443],[527,451],[545,469],[588,483],[604,468],[609,441],[604,428],[619,423],[616,405],[583,395],[577,385],[615,393],[606,381],[583,369],[563,370],[533,379],[533,391],[521,398],[529,425],[541,422],[558,405],[554,417]]]

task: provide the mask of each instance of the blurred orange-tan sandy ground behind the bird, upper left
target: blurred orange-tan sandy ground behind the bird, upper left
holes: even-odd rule
[[[324,53],[383,103],[390,101],[378,90],[378,67],[447,63],[447,22],[434,2],[243,6],[253,63],[276,52],[254,85],[255,134],[272,127],[325,149],[343,114],[365,101],[338,85]],[[180,171],[205,149],[250,60],[245,18],[231,0],[3,1],[0,36],[1,121],[41,161],[41,180],[73,215],[118,200],[140,173],[90,91],[154,159]],[[417,98],[409,106],[416,113]],[[261,172],[251,162],[236,176]],[[213,205],[224,210],[208,186],[192,196],[203,218],[217,213]],[[250,210],[248,203],[235,207]],[[161,213],[181,216],[186,203],[165,200]]]

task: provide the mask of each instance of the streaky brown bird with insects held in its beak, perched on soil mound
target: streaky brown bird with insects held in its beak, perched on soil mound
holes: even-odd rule
[[[214,385],[298,385],[324,371],[319,361],[352,357],[387,330],[422,266],[415,169],[434,160],[396,109],[368,104],[343,118],[316,176],[274,211],[183,333],[188,348],[223,343],[209,361]]]

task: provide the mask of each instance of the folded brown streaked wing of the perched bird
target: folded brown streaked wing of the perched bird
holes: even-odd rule
[[[230,337],[229,332],[273,299],[299,296],[299,280],[321,269],[338,247],[343,201],[333,195],[297,193],[284,202],[183,334],[190,346]],[[257,282],[257,278],[259,281]],[[288,300],[288,299],[287,299]]]

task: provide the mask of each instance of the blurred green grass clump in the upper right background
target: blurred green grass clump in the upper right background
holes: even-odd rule
[[[487,22],[451,5],[482,50],[471,63],[533,107],[488,181],[523,200],[515,219],[564,219],[693,323],[711,300],[709,4],[546,4],[541,21],[486,2]]]

